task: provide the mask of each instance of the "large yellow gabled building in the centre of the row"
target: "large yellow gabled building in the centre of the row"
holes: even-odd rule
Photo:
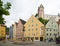
[[[26,40],[43,41],[44,25],[35,16],[32,15],[24,27],[24,37]]]

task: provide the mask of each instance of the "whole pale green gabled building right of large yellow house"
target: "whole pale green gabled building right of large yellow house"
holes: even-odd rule
[[[58,37],[58,24],[53,17],[50,18],[45,26],[45,37],[47,41],[50,39],[55,40]]]

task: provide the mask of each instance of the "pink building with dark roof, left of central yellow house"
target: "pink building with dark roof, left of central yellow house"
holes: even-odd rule
[[[22,19],[20,19],[18,21],[18,23],[16,23],[16,40],[23,40],[24,37],[24,24],[26,22]]]

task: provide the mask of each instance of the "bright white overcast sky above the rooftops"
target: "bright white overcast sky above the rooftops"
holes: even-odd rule
[[[45,14],[57,15],[60,13],[60,0],[3,0],[3,2],[10,2],[12,4],[9,10],[10,15],[3,15],[7,27],[18,22],[19,19],[27,21],[38,12],[40,4],[44,6]]]

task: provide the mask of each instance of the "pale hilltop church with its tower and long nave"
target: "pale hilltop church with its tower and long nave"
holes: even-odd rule
[[[39,7],[38,7],[38,18],[43,18],[43,19],[50,19],[51,17],[55,18],[56,21],[58,21],[60,19],[60,14],[58,15],[50,15],[50,14],[45,14],[44,13],[44,6],[41,4]]]

